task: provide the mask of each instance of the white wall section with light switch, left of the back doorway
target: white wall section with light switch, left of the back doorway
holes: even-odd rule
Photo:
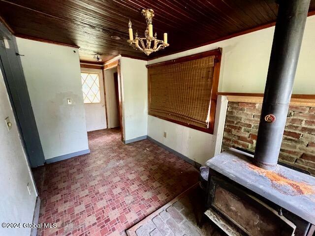
[[[89,149],[78,49],[16,39],[45,159]]]

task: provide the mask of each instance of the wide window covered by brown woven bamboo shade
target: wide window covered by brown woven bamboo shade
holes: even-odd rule
[[[213,133],[221,50],[148,66],[149,115]]]

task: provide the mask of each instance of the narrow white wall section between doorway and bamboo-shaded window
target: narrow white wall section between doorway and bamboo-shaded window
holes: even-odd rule
[[[123,123],[125,140],[147,135],[148,71],[147,61],[121,58]]]

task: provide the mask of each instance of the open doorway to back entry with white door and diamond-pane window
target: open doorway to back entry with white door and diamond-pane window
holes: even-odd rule
[[[119,60],[110,66],[81,64],[87,131],[116,129],[124,141],[120,79]]]

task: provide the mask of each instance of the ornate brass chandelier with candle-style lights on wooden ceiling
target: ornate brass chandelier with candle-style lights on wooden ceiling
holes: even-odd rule
[[[160,49],[164,49],[165,47],[169,46],[167,43],[167,33],[164,33],[164,40],[159,40],[157,38],[158,34],[155,33],[153,37],[153,25],[152,25],[152,18],[154,17],[154,11],[152,9],[143,9],[141,11],[142,15],[147,20],[147,29],[144,31],[144,38],[138,37],[138,32],[135,34],[135,38],[133,38],[132,33],[132,24],[129,20],[129,40],[127,40],[130,45],[136,49],[144,52],[147,56],[149,56],[153,52],[157,52]],[[144,42],[146,40],[146,42]]]

